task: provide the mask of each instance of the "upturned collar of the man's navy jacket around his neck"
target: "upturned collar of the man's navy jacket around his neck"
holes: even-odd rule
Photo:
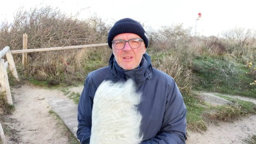
[[[151,79],[153,69],[151,57],[147,53],[143,54],[140,68],[135,68],[132,70],[124,70],[119,67],[114,58],[114,54],[112,53],[109,60],[109,67],[114,78],[118,78],[121,81],[132,79],[137,84],[144,82],[146,79]]]

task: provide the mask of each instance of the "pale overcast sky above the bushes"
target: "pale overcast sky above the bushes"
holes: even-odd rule
[[[256,28],[254,0],[6,0],[0,4],[0,20],[13,21],[19,7],[44,5],[58,7],[67,14],[79,12],[79,18],[94,13],[111,22],[129,17],[153,28],[183,23],[184,28],[192,27],[192,31],[200,12],[206,36],[218,36],[234,27]]]

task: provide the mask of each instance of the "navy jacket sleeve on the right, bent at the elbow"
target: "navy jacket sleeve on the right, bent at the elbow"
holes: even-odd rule
[[[169,90],[161,130],[154,138],[141,144],[185,144],[187,108],[174,80]]]

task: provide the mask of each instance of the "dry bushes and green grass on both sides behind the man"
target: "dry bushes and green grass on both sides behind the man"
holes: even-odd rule
[[[0,26],[1,48],[21,49],[24,33],[28,35],[28,49],[106,43],[112,25],[96,15],[79,20],[51,7],[20,9],[14,19],[14,23],[3,22]],[[225,97],[233,104],[211,106],[194,93],[197,90],[256,98],[255,31],[234,28],[220,37],[195,37],[182,24],[147,31],[150,38],[147,53],[153,66],[174,77],[183,94],[188,129],[207,130],[207,121],[230,121],[255,113],[252,103]],[[28,53],[27,67],[21,63],[21,54],[13,57],[22,83],[66,87],[83,83],[88,72],[107,66],[111,52],[102,46]],[[17,84],[11,77],[9,82]],[[78,102],[79,94],[63,91]]]

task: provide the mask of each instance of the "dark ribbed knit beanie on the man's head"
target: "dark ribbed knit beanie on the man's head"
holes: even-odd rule
[[[131,19],[131,18],[123,18],[117,21],[114,26],[110,29],[108,35],[108,44],[112,49],[112,40],[115,36],[122,33],[134,33],[142,38],[147,48],[148,46],[148,38],[146,36],[146,31],[142,27],[140,23]]]

